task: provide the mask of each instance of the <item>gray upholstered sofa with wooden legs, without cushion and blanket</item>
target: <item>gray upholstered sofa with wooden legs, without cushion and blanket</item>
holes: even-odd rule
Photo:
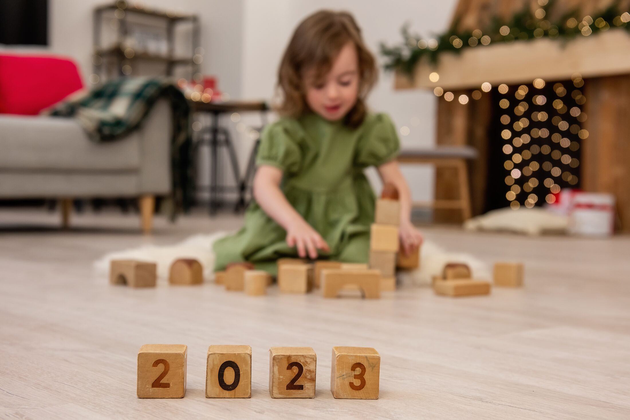
[[[139,130],[106,143],[73,118],[0,115],[0,198],[62,200],[67,227],[72,198],[137,197],[150,232],[155,196],[171,191],[172,130],[164,99]]]

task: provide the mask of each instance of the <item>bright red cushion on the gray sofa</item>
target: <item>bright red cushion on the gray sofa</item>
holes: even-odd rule
[[[72,60],[0,55],[0,113],[37,115],[81,88]]]

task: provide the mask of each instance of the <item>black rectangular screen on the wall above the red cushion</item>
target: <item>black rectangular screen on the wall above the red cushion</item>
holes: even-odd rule
[[[48,45],[48,0],[0,0],[0,43]]]

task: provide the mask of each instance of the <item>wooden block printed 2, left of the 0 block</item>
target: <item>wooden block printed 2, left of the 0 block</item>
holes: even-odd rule
[[[138,351],[138,398],[182,398],[186,394],[185,344],[144,344]]]

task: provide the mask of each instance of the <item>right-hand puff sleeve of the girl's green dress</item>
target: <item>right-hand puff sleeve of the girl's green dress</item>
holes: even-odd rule
[[[400,142],[396,127],[387,114],[369,115],[357,144],[355,166],[381,166],[398,155]]]

